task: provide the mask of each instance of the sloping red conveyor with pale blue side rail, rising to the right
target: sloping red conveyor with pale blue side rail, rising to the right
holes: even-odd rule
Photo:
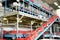
[[[58,16],[52,16],[39,28],[29,33],[25,38],[17,38],[16,40],[37,40],[47,29],[58,19]]]

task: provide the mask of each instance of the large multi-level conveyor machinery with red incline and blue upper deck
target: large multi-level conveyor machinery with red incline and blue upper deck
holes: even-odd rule
[[[43,33],[57,21],[58,16],[52,14],[53,12],[51,11],[52,9],[50,9],[51,7],[43,5],[43,2],[39,3],[40,5],[37,5],[37,3],[36,0],[2,1],[2,6],[4,7],[3,19],[7,19],[3,21],[3,24],[15,25],[15,28],[12,27],[12,30],[2,30],[4,39],[38,40]],[[9,13],[9,11],[11,13]],[[20,30],[21,27],[30,30],[22,29],[22,31]]]

